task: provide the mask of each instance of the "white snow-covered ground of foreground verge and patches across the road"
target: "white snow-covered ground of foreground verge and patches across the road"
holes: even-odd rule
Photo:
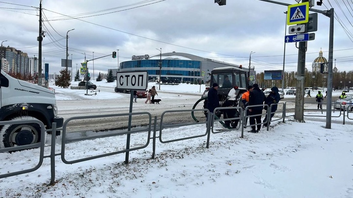
[[[115,87],[115,83],[93,83]],[[161,92],[200,93],[198,85],[169,87],[162,85]],[[65,100],[65,92],[71,91],[54,88],[60,93],[58,100]],[[109,94],[102,91],[95,99],[107,99]],[[244,138],[240,131],[211,134],[209,149],[206,137],[157,142],[155,159],[151,159],[150,143],[130,152],[129,164],[124,163],[125,154],[72,165],[56,156],[53,186],[49,185],[50,159],[45,158],[32,173],[1,178],[0,198],[353,198],[353,129],[352,122],[343,125],[342,119],[332,118],[340,122],[332,122],[331,129],[325,129],[325,118],[305,123],[288,119],[274,122],[268,132],[246,132]],[[205,129],[181,127],[165,134],[173,138]],[[131,146],[140,146],[146,134],[131,140]],[[65,158],[114,152],[124,148],[125,142],[124,137],[110,137],[68,144]],[[56,152],[60,149],[57,144]],[[2,153],[0,174],[32,168],[38,155],[38,149]]]

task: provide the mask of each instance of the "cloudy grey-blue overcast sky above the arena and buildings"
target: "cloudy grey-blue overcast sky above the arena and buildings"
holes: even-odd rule
[[[295,0],[277,0],[295,4]],[[316,0],[315,0],[316,1]],[[74,69],[87,60],[111,55],[119,49],[119,62],[133,55],[150,57],[166,52],[184,52],[228,63],[252,66],[257,72],[282,69],[287,6],[260,0],[228,0],[219,6],[214,0],[42,0],[42,57],[50,73],[58,72],[65,59],[66,33],[69,32],[69,59]],[[336,2],[339,3],[337,6]],[[0,40],[38,57],[40,0],[0,1],[2,17]],[[353,3],[348,0],[324,0],[320,10],[335,9],[333,65],[339,71],[350,71],[353,60]],[[310,12],[311,13],[311,12]],[[339,22],[337,21],[339,20]],[[288,35],[288,33],[287,33]],[[329,18],[318,14],[315,40],[309,41],[306,68],[323,55],[328,59]],[[53,42],[54,41],[54,42]],[[94,52],[94,53],[92,53]],[[45,58],[45,59],[44,59]],[[297,71],[298,49],[286,44],[285,71]],[[92,72],[93,62],[88,63]],[[111,56],[94,61],[96,76],[117,68],[118,59]],[[92,75],[92,74],[91,74]],[[95,76],[95,77],[96,77]]]

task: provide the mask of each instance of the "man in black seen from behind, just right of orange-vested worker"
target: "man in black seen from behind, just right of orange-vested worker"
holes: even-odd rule
[[[250,132],[259,132],[261,129],[261,115],[262,115],[262,109],[263,109],[263,102],[265,101],[265,94],[258,88],[257,84],[252,85],[252,92],[250,92],[249,96],[249,106],[253,105],[261,105],[258,107],[250,107],[249,112],[252,117],[250,117],[250,125],[255,124],[256,120],[256,126],[252,126],[252,130]],[[253,116],[256,115],[256,116]]]

